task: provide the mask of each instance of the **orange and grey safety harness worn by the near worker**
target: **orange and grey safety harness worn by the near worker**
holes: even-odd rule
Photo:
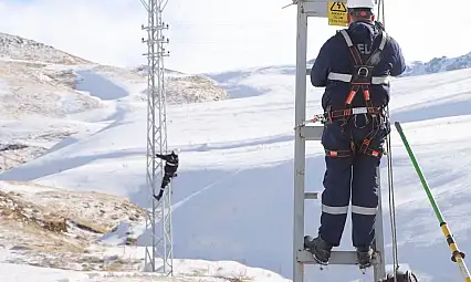
[[[373,52],[373,54],[364,61],[362,59],[362,54],[358,49],[353,44],[350,36],[348,35],[347,30],[339,31],[343,38],[345,39],[348,49],[352,53],[353,59],[353,70],[352,74],[343,74],[343,73],[334,73],[331,72],[327,76],[328,80],[332,81],[342,81],[350,84],[352,88],[348,93],[348,96],[345,101],[345,108],[338,111],[332,111],[331,106],[327,108],[325,113],[327,121],[332,123],[335,119],[342,121],[342,130],[345,132],[345,125],[348,121],[354,116],[355,118],[355,127],[358,127],[356,124],[356,116],[364,115],[366,119],[366,124],[368,124],[368,116],[371,117],[373,122],[376,122],[376,126],[374,124],[373,130],[367,134],[365,139],[362,143],[359,148],[359,153],[370,155],[374,157],[380,158],[383,156],[383,149],[371,149],[369,148],[369,144],[371,139],[376,136],[379,129],[380,122],[377,118],[385,117],[384,107],[374,107],[370,93],[369,85],[371,84],[389,84],[389,76],[373,76],[373,71],[375,66],[379,63],[381,59],[381,52],[388,41],[388,36],[385,31],[381,31],[381,42],[379,46]],[[352,107],[352,102],[355,98],[355,95],[363,91],[363,96],[365,98],[365,107]],[[365,125],[366,126],[366,125]],[[331,157],[349,157],[354,155],[356,152],[355,143],[352,138],[350,140],[350,150],[325,150],[325,153]]]

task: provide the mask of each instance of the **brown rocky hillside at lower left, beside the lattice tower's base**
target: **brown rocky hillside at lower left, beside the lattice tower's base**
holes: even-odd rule
[[[133,270],[139,260],[106,258],[97,240],[145,210],[126,199],[31,182],[0,181],[0,246],[14,263],[74,270]],[[93,252],[92,252],[93,250]]]

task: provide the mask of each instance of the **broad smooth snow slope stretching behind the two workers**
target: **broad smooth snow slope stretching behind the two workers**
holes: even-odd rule
[[[212,77],[230,77],[223,86],[243,98],[168,107],[169,145],[182,149],[172,196],[174,254],[178,259],[234,260],[291,278],[294,77],[284,67]],[[467,207],[471,133],[465,130],[471,126],[470,87],[471,70],[402,77],[394,82],[391,102],[393,118],[402,122],[464,252],[471,249],[471,222],[465,217],[471,211]],[[320,113],[321,95],[322,90],[308,87],[308,115]],[[71,117],[88,133],[64,139],[0,179],[107,192],[146,206],[146,104],[136,98],[95,96],[102,108]],[[459,281],[458,268],[450,261],[449,248],[395,130],[393,149],[400,261],[420,281]],[[322,190],[322,146],[310,143],[306,157],[306,187]],[[386,175],[385,165],[383,173]],[[386,187],[386,178],[383,185]],[[384,196],[386,207],[386,189]],[[315,233],[320,210],[320,201],[306,205],[306,232]],[[147,236],[138,237],[138,243],[145,243]],[[389,234],[386,242],[391,262]],[[349,249],[349,243],[348,224],[342,249]],[[328,267],[322,272],[310,267],[308,275],[315,281],[371,281],[370,272],[364,276],[354,267]]]

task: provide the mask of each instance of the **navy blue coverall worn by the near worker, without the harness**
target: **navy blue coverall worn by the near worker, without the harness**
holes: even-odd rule
[[[352,23],[347,32],[353,45],[368,58],[381,42],[381,29],[369,22]],[[374,69],[374,76],[398,76],[406,70],[405,59],[398,43],[387,36],[381,59]],[[339,111],[345,108],[345,101],[352,90],[349,82],[327,79],[329,73],[352,74],[354,62],[345,38],[337,32],[321,48],[318,56],[311,72],[313,86],[324,87],[322,97],[324,111]],[[389,103],[389,83],[369,86],[370,101],[374,106],[385,106]],[[353,107],[365,107],[365,98],[357,93],[353,100]],[[342,233],[348,212],[352,189],[352,239],[354,247],[370,247],[375,230],[374,223],[378,207],[377,168],[381,154],[377,157],[360,154],[352,148],[359,148],[365,137],[375,130],[370,138],[369,148],[380,152],[386,136],[390,132],[389,122],[371,122],[366,115],[349,118],[345,127],[339,122],[325,124],[322,144],[326,150],[350,150],[348,157],[325,156],[326,171],[324,176],[324,191],[322,194],[322,216],[318,234],[333,247],[341,243]],[[369,123],[366,123],[369,121]],[[358,125],[360,124],[360,125]],[[363,128],[362,128],[363,127]]]

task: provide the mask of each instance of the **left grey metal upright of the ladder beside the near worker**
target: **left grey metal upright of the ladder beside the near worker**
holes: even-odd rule
[[[306,117],[306,59],[307,56],[307,15],[304,2],[297,2],[296,32],[296,81],[295,81],[295,125]],[[301,128],[296,127],[294,136],[294,218],[293,218],[293,282],[303,282],[304,265],[297,260],[297,251],[304,249],[304,175],[305,139]]]

